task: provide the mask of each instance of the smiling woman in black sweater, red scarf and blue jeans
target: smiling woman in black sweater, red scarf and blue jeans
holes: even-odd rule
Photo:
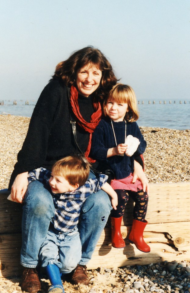
[[[57,65],[55,74],[34,108],[9,184],[12,198],[20,203],[24,199],[21,248],[21,264],[25,267],[21,288],[24,291],[37,292],[41,288],[36,271],[38,253],[54,215],[49,191],[38,181],[27,187],[28,171],[38,167],[51,170],[56,160],[74,153],[83,152],[88,158],[91,133],[101,118],[99,101],[106,97],[116,82],[106,57],[98,49],[86,47]],[[70,113],[76,120],[80,151],[74,139]],[[139,177],[144,189],[147,189],[142,167],[138,163],[135,167],[137,174],[134,175],[134,181]],[[91,172],[90,177],[94,176]],[[103,191],[89,196],[83,204],[79,225],[82,258],[72,276],[74,284],[89,283],[86,265],[111,209],[109,197]],[[102,217],[106,221],[102,221]]]

